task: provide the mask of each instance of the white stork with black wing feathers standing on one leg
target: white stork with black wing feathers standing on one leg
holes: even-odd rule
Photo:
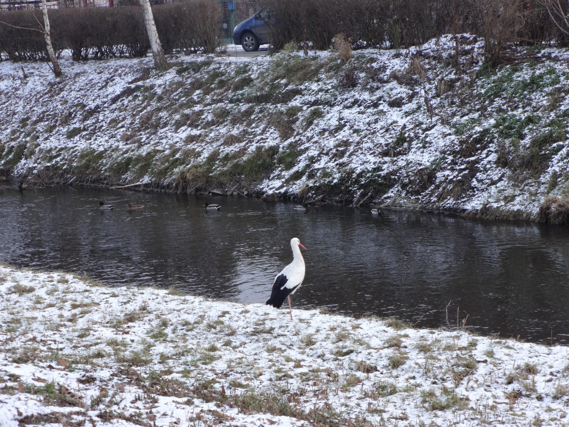
[[[271,297],[266,304],[272,305],[275,309],[280,309],[283,305],[284,298],[288,299],[288,310],[290,310],[290,319],[292,320],[292,308],[290,306],[290,295],[294,294],[302,281],[304,280],[304,258],[300,253],[300,248],[306,251],[306,248],[300,243],[296,237],[290,241],[292,248],[292,262],[283,268],[282,272],[277,274],[273,284]]]

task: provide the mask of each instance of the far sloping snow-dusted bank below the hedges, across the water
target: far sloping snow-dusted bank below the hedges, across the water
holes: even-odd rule
[[[569,52],[451,36],[301,58],[0,63],[0,173],[535,219],[569,193]],[[177,61],[177,62],[176,62]],[[554,204],[555,205],[555,204]],[[557,205],[555,205],[557,206]],[[559,206],[561,206],[559,204]]]

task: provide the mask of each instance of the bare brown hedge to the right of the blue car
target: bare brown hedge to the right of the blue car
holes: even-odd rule
[[[351,38],[354,49],[417,46],[448,33],[453,17],[468,17],[460,19],[456,32],[488,35],[490,63],[493,58],[500,60],[506,43],[516,39],[566,40],[543,8],[532,5],[526,11],[517,0],[259,0],[258,4],[269,18],[270,43],[276,49],[290,42],[296,46],[309,42],[324,50],[338,34]]]

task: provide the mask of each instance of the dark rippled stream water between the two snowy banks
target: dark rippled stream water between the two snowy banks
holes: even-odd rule
[[[100,212],[98,200],[114,211]],[[222,204],[220,212],[202,205]],[[129,213],[126,203],[144,204]],[[569,227],[335,206],[307,213],[246,198],[119,190],[0,188],[0,259],[86,272],[109,285],[171,285],[191,294],[264,302],[308,248],[296,307],[398,316],[420,327],[467,325],[532,341],[569,342]]]

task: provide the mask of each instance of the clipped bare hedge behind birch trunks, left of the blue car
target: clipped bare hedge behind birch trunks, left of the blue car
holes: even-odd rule
[[[142,10],[135,6],[61,7],[50,10],[56,51],[71,50],[73,60],[145,56],[150,49]],[[222,10],[218,2],[185,0],[152,6],[164,51],[213,53],[220,46]],[[43,35],[30,10],[2,11],[0,52],[12,60],[46,60]]]

